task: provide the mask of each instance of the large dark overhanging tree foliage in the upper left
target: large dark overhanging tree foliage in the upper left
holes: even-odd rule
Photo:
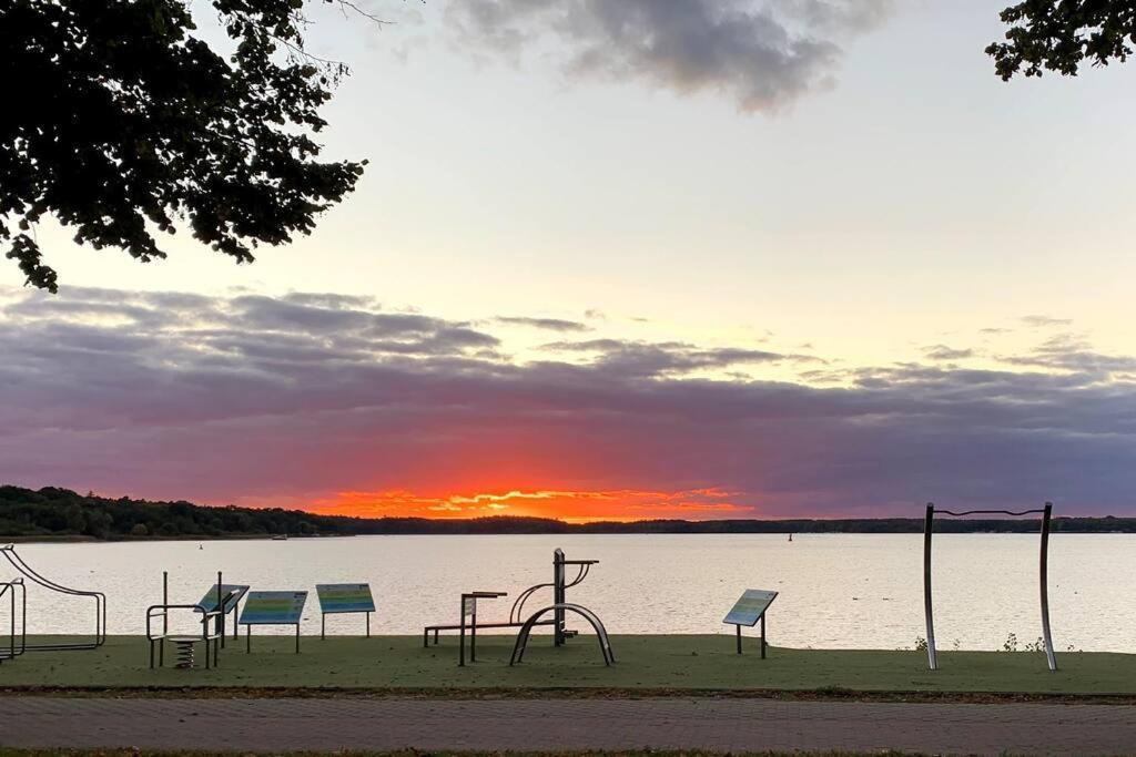
[[[185,226],[248,262],[354,187],[366,161],[317,159],[345,69],[304,51],[303,2],[211,0],[219,51],[185,0],[0,0],[0,242],[30,284],[57,289],[45,216],[140,261]]]

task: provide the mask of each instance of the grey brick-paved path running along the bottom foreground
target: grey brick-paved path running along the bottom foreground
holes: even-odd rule
[[[769,699],[0,697],[0,746],[141,749],[1136,751],[1136,707]]]

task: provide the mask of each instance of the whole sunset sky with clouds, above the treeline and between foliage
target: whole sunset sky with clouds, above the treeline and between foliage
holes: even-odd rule
[[[325,155],[369,160],[312,235],[141,264],[44,222],[60,293],[0,267],[0,481],[1136,514],[1131,65],[1004,83],[978,0],[365,7],[307,34],[352,69]]]

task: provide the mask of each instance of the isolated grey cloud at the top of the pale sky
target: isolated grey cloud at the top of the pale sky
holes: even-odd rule
[[[721,92],[774,111],[832,83],[841,43],[880,24],[891,0],[456,0],[462,47],[518,60],[552,39],[570,76]]]

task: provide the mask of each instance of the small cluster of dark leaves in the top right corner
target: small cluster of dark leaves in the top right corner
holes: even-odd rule
[[[1136,0],[1025,0],[1001,12],[1005,42],[986,48],[1003,79],[1044,70],[1076,76],[1081,64],[1124,62],[1136,43]]]

